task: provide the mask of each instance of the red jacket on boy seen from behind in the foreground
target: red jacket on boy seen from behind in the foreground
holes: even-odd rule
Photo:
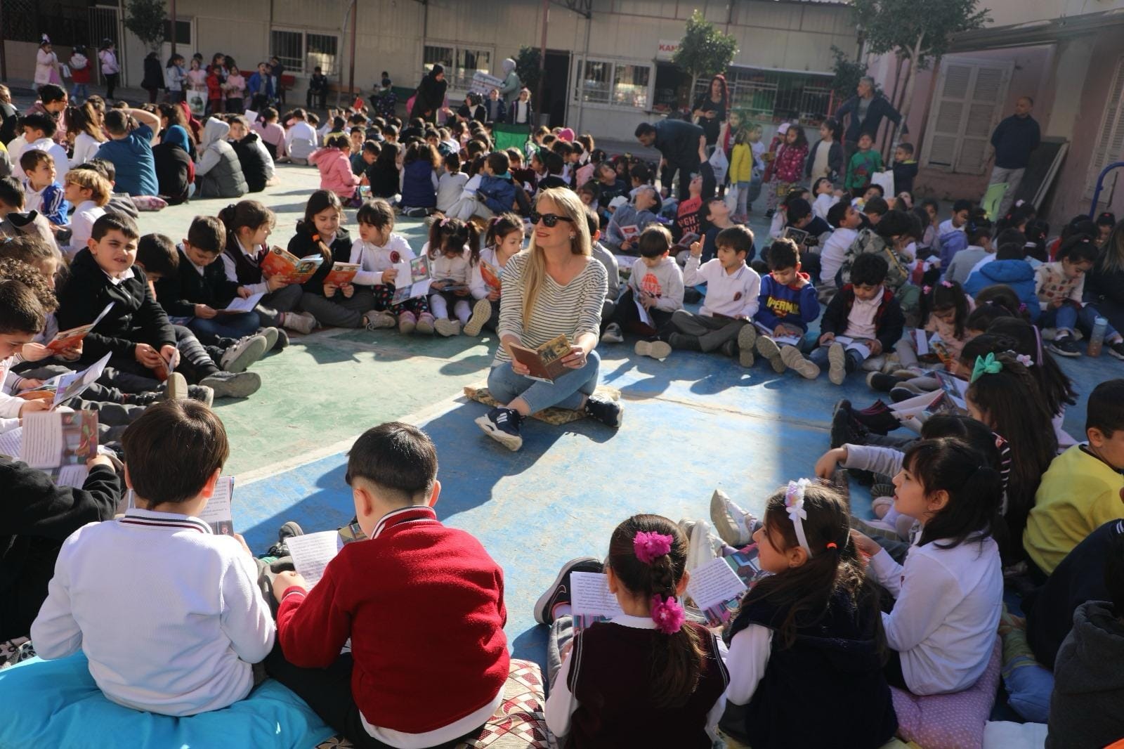
[[[410,506],[384,516],[370,540],[345,545],[310,593],[284,592],[278,641],[296,666],[325,668],[350,637],[352,696],[366,721],[424,733],[504,687],[506,622],[499,565],[433,508]]]

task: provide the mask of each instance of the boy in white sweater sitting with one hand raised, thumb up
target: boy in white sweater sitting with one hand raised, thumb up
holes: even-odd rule
[[[718,233],[715,244],[718,256],[701,267],[703,243],[691,244],[683,268],[683,283],[706,283],[706,300],[698,315],[686,309],[672,313],[676,332],[668,336],[668,343],[672,349],[687,351],[720,349],[727,357],[736,357],[740,331],[756,313],[761,291],[761,277],[745,264],[745,259],[753,253],[753,232],[744,226],[732,226]]]

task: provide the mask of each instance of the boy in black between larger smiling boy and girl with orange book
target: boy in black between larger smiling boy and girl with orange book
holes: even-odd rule
[[[226,250],[226,228],[214,216],[196,216],[178,247],[175,276],[156,283],[156,298],[173,323],[187,325],[205,345],[219,339],[242,339],[260,327],[257,313],[224,314],[234,299],[252,296],[247,286],[229,280],[217,261]]]

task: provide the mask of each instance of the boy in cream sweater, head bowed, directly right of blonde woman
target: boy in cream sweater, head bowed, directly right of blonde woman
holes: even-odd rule
[[[683,274],[669,254],[671,232],[663,226],[655,224],[641,232],[636,250],[640,259],[633,264],[613,323],[618,331],[624,328],[642,336],[636,342],[637,354],[663,360],[671,354],[667,342],[674,330],[671,317],[683,308]]]

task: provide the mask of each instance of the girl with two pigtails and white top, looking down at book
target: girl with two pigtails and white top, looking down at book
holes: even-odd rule
[[[479,333],[491,317],[491,303],[484,298],[488,290],[475,272],[480,262],[480,233],[475,224],[460,218],[434,222],[422,254],[429,259],[434,279],[429,308],[436,318],[437,334],[460,335],[469,325]]]

